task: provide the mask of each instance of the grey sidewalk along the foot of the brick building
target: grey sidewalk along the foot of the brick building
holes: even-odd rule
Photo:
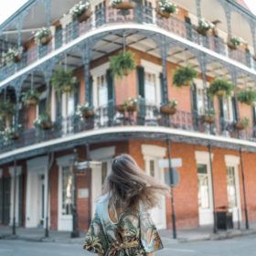
[[[217,234],[212,232],[212,227],[203,227],[197,229],[181,229],[177,230],[177,239],[173,239],[172,230],[165,229],[160,230],[161,238],[164,242],[191,242],[199,240],[225,240],[234,237],[245,236],[250,234],[256,234],[256,223],[251,223],[251,229],[244,229],[243,225],[241,229],[229,229],[219,230]],[[11,227],[0,226],[0,240],[27,240],[27,241],[50,241],[60,243],[83,243],[85,232],[80,232],[80,238],[71,239],[70,232],[67,231],[49,231],[49,237],[45,238],[44,229],[24,229],[16,228],[16,236],[12,235]]]

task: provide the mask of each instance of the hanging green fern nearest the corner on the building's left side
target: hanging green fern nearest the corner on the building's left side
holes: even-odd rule
[[[57,92],[70,92],[76,87],[77,79],[70,69],[58,69],[51,78],[52,86]]]

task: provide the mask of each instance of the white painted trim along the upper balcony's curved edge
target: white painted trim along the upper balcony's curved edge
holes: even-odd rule
[[[100,27],[97,29],[93,29],[89,31],[88,33],[85,33],[82,37],[78,37],[75,40],[69,42],[69,44],[62,46],[61,48],[58,48],[57,50],[49,53],[47,56],[45,56],[42,59],[38,59],[36,62],[33,64],[27,66],[25,69],[21,69],[20,71],[16,72],[13,76],[8,77],[7,79],[3,80],[0,82],[0,88],[5,86],[5,84],[10,83],[12,80],[15,80],[17,77],[23,75],[26,72],[29,72],[31,69],[35,69],[38,65],[44,63],[48,59],[52,59],[55,56],[59,55],[61,52],[67,50],[68,48],[71,48],[75,46],[76,44],[80,43],[81,41],[85,40],[86,38],[92,37],[94,35],[98,35],[104,32],[112,32],[113,30],[123,30],[123,29],[137,29],[137,30],[147,30],[147,31],[152,31],[155,33],[160,33],[166,37],[172,37],[176,41],[187,44],[189,47],[196,48],[200,50],[201,52],[207,53],[209,56],[215,57],[217,59],[221,59],[231,65],[234,65],[252,75],[256,75],[256,70],[250,69],[246,67],[244,64],[241,64],[240,62],[229,59],[227,56],[223,56],[217,52],[214,52],[208,48],[204,48],[202,46],[197,45],[196,43],[193,43],[186,38],[179,37],[173,32],[166,31],[163,28],[160,27],[155,27],[155,26],[148,26],[148,24],[143,25],[143,24],[118,24],[118,25],[108,25],[107,27]]]

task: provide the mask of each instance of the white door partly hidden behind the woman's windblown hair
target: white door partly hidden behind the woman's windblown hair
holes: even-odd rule
[[[162,170],[158,167],[157,163],[158,161],[156,158],[148,158],[145,161],[146,173],[163,182],[165,179],[164,172],[162,172]],[[159,206],[151,209],[150,214],[157,229],[166,228],[166,208],[164,196],[160,197]]]

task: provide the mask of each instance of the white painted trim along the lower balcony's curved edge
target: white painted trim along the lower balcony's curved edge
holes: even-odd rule
[[[86,131],[82,133],[76,133],[76,134],[67,134],[65,137],[59,137],[58,139],[50,140],[48,142],[43,142],[39,144],[33,144],[26,147],[18,148],[16,150],[12,150],[7,153],[3,153],[0,155],[0,160],[5,159],[6,157],[11,157],[13,155],[18,155],[21,153],[26,153],[31,150],[37,150],[41,147],[46,147],[53,144],[61,144],[61,143],[67,143],[73,140],[79,140],[81,138],[88,138],[91,136],[97,136],[102,134],[112,134],[112,133],[165,133],[165,134],[174,134],[179,136],[185,136],[185,137],[191,137],[191,138],[200,138],[200,139],[206,139],[209,141],[216,141],[226,144],[236,144],[236,145],[247,145],[251,147],[256,147],[256,143],[246,141],[246,140],[240,140],[230,137],[222,137],[222,136],[216,136],[212,134],[207,133],[197,133],[197,132],[189,132],[185,130],[175,129],[175,128],[166,128],[166,127],[160,127],[160,126],[122,126],[122,127],[108,127],[108,128],[101,128],[101,129],[95,129],[91,131]]]

